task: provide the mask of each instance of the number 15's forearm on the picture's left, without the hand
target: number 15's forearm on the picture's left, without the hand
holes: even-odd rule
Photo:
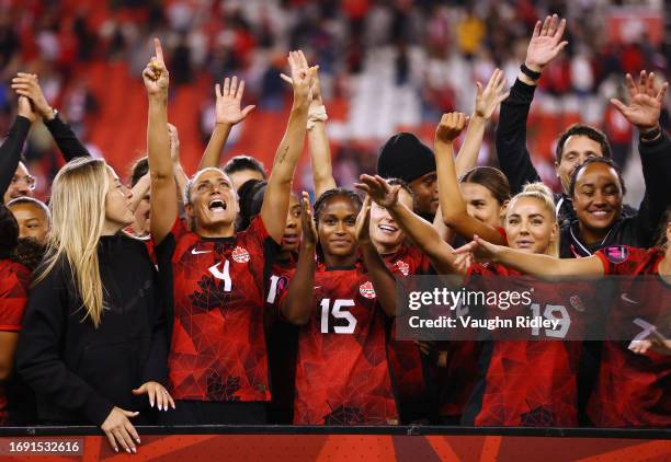
[[[310,320],[315,270],[315,245],[304,242],[298,251],[296,273],[280,307],[282,316],[292,324],[305,325]]]

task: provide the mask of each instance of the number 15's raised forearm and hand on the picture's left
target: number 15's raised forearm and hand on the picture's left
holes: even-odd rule
[[[292,324],[304,325],[310,320],[315,287],[315,249],[317,247],[317,229],[307,193],[303,193],[300,201],[300,221],[303,222],[303,240],[298,251],[296,273],[292,278],[286,294],[280,301],[282,316]]]

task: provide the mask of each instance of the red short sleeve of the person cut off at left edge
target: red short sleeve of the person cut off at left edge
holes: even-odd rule
[[[0,278],[0,331],[19,332],[27,304],[31,272],[23,265],[11,264]]]

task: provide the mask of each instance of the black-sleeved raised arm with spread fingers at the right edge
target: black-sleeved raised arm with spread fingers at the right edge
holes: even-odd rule
[[[655,73],[640,72],[638,82],[630,74],[625,77],[629,104],[611,100],[622,115],[638,128],[638,152],[646,184],[646,194],[638,209],[637,224],[641,238],[652,246],[659,222],[671,204],[671,140],[661,128],[659,117],[669,82],[658,90]]]

